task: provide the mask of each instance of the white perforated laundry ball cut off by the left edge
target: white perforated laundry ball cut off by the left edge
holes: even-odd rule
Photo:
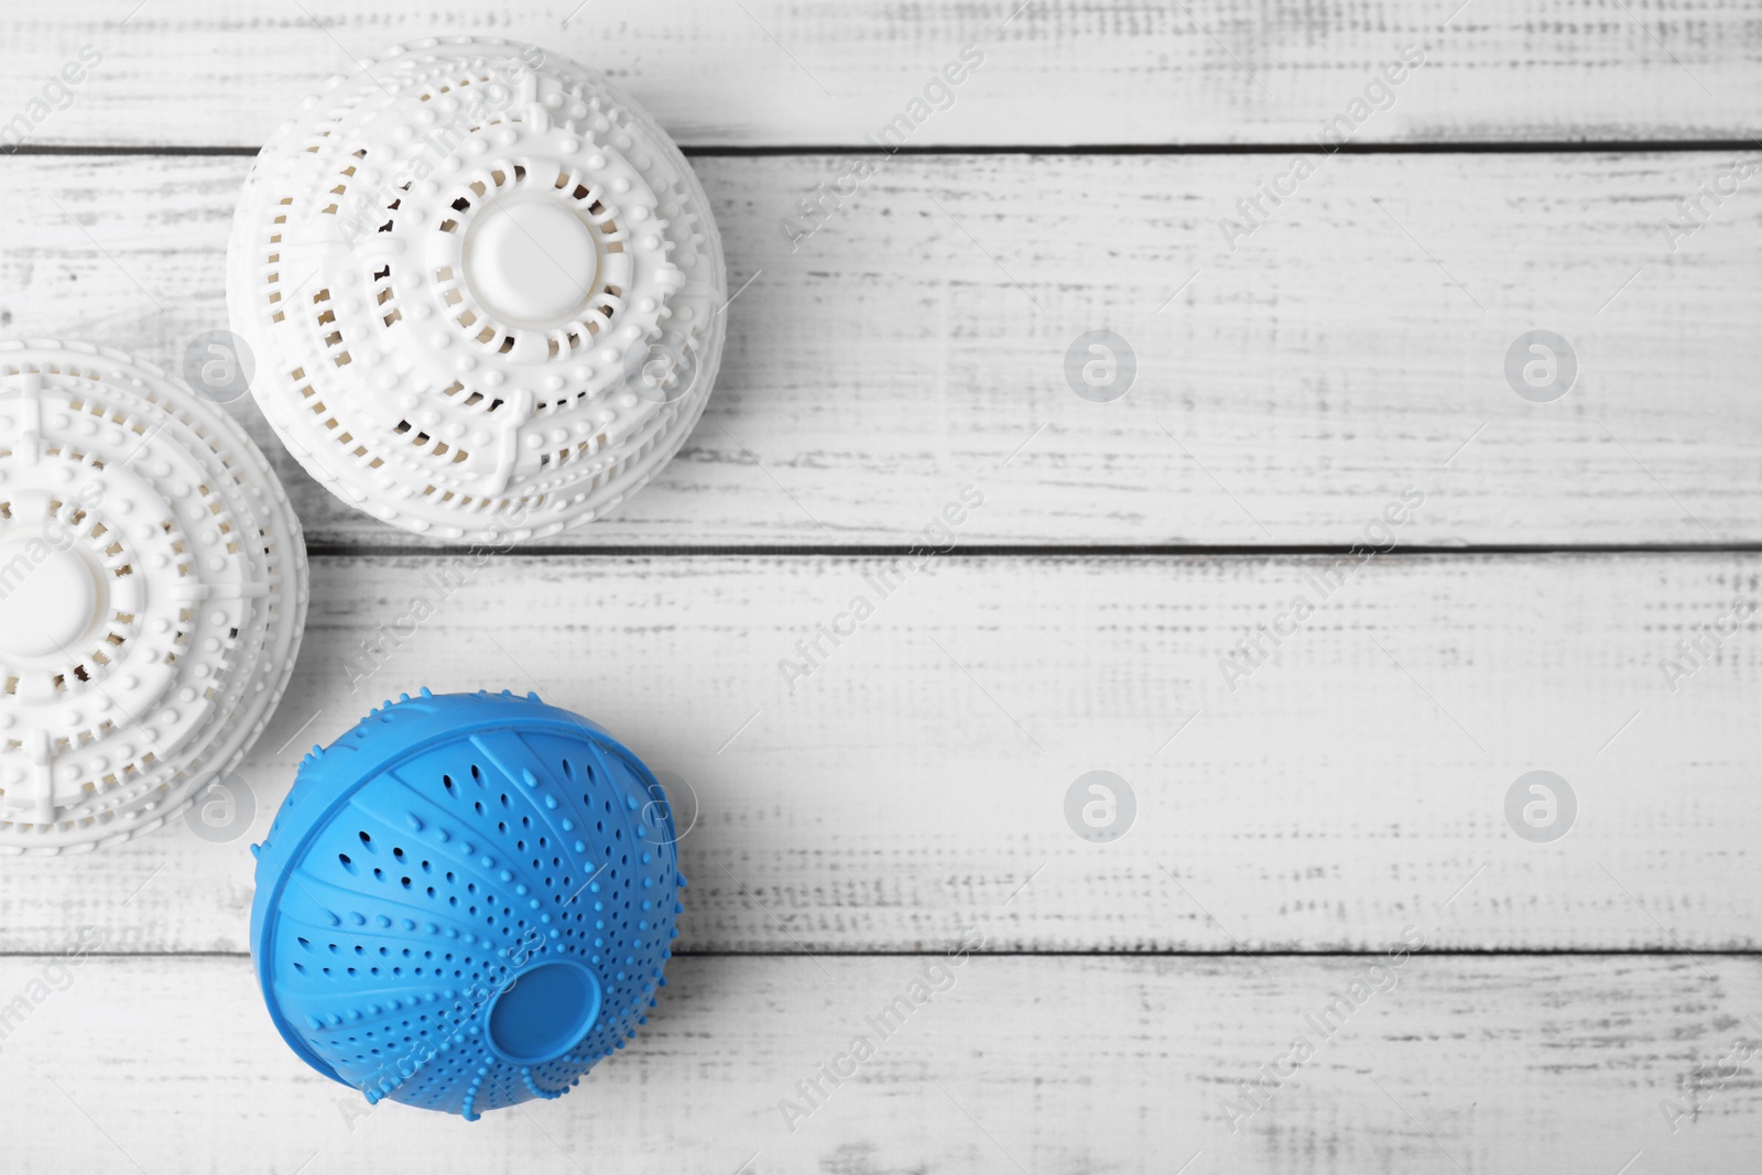
[[[257,446],[159,368],[0,344],[0,853],[159,828],[275,712],[307,610]]]

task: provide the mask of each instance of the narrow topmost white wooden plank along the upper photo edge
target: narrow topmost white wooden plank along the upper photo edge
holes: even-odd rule
[[[81,46],[104,60],[35,143],[257,146],[328,76],[400,41],[493,35],[597,65],[680,141],[860,144],[973,44],[934,144],[1300,143],[1403,48],[1425,65],[1360,141],[1736,137],[1762,116],[1762,21],[1713,0],[201,0],[16,7],[0,111]],[[574,12],[571,12],[574,9]],[[127,18],[127,19],[125,19]]]

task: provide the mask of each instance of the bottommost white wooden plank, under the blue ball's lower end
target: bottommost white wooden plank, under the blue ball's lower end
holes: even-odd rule
[[[277,1038],[248,960],[90,958],[5,1041],[7,1170],[1651,1175],[1762,1147],[1753,1060],[1702,1080],[1677,1133],[1660,1110],[1762,1038],[1753,960],[1422,951],[1323,1039],[1306,1016],[1369,960],[969,958],[877,1039],[865,1018],[925,962],[675,960],[652,1024],[571,1096],[467,1124],[365,1113]],[[5,960],[0,994],[44,965]],[[777,1103],[858,1034],[874,1057],[789,1133]],[[1309,1060],[1232,1133],[1225,1099],[1299,1034]]]

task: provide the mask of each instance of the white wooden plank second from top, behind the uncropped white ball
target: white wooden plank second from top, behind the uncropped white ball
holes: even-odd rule
[[[1420,544],[1762,541],[1762,210],[1727,201],[1676,252],[1662,227],[1720,157],[1332,157],[1233,254],[1219,217],[1283,160],[899,159],[793,254],[775,222],[833,160],[698,164],[752,278],[715,396],[564,543],[906,544],[964,483],[964,544],[1344,546],[1408,484]],[[226,322],[245,166],[0,162],[0,333],[176,365]],[[1114,403],[1066,384],[1094,328],[1136,352]],[[1579,356],[1556,403],[1507,382],[1535,328]],[[414,543],[234,410],[308,541]]]

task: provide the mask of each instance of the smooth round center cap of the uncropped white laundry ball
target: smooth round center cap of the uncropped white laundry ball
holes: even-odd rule
[[[490,208],[465,241],[465,280],[492,312],[518,326],[566,319],[594,291],[599,252],[567,208]]]

